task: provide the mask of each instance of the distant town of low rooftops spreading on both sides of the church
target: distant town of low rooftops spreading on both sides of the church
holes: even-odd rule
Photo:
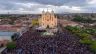
[[[26,26],[28,27],[31,24],[32,20],[38,20],[40,16],[41,14],[1,14],[0,30],[17,31],[18,28]],[[95,13],[55,14],[55,16],[57,16],[58,18],[58,23],[64,25],[78,24],[79,26],[84,27],[91,27],[96,25]]]

